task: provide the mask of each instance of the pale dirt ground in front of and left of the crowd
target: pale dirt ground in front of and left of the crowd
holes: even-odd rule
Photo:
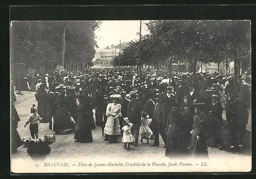
[[[35,93],[34,92],[23,92],[24,95],[18,96],[17,102],[15,103],[15,107],[18,111],[20,122],[18,123],[18,132],[20,138],[30,138],[29,126],[26,128],[24,124],[28,119],[30,114],[30,108],[32,104],[36,104],[35,100]],[[247,128],[250,127],[250,123],[248,124]],[[39,124],[39,137],[45,135],[51,135],[54,132],[49,130],[48,123],[40,123]],[[101,136],[101,128],[97,127],[96,129],[92,130],[93,134],[93,142],[92,143],[77,143],[74,141],[74,134],[71,133],[69,135],[56,135],[56,142],[51,144],[51,153],[47,156],[47,158],[53,159],[64,159],[64,158],[73,158],[73,157],[83,157],[83,156],[90,156],[90,157],[100,157],[100,156],[109,156],[111,158],[141,158],[143,156],[150,156],[157,157],[157,156],[164,156],[165,149],[163,148],[163,141],[160,138],[160,146],[159,147],[151,147],[148,144],[139,144],[138,147],[131,147],[131,151],[126,151],[123,149],[122,143],[117,144],[109,144],[106,141],[103,141]],[[121,141],[121,139],[119,139]],[[150,141],[152,144],[153,141]],[[27,159],[29,158],[27,154],[27,149],[23,147],[19,147],[18,151],[12,154],[13,159]],[[218,149],[208,148],[209,157],[216,158],[216,157],[239,157],[239,158],[249,158],[250,156],[244,154],[237,154],[237,153],[230,153],[227,151],[221,151]]]

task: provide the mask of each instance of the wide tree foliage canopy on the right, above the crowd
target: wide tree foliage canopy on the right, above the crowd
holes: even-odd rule
[[[250,60],[249,20],[151,20],[146,25],[150,33],[131,41],[115,63]]]

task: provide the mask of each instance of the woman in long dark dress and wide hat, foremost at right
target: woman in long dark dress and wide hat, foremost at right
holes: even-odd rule
[[[189,155],[191,157],[208,158],[208,149],[205,136],[206,115],[203,111],[204,103],[194,104],[195,116],[193,119],[193,129],[191,133],[191,142],[189,146]]]

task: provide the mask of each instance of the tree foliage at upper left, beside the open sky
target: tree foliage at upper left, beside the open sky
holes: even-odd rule
[[[94,31],[99,24],[99,21],[12,21],[11,62],[51,68],[61,63],[61,55],[65,53],[65,61],[90,63],[97,47]]]

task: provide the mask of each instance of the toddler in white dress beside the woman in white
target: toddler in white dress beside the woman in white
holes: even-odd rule
[[[124,118],[123,119],[123,127],[122,127],[122,131],[123,131],[122,142],[124,143],[123,147],[127,150],[130,150],[131,143],[134,143],[134,141],[135,141],[135,139],[131,133],[132,127],[133,127],[133,124],[130,123],[128,118]]]

